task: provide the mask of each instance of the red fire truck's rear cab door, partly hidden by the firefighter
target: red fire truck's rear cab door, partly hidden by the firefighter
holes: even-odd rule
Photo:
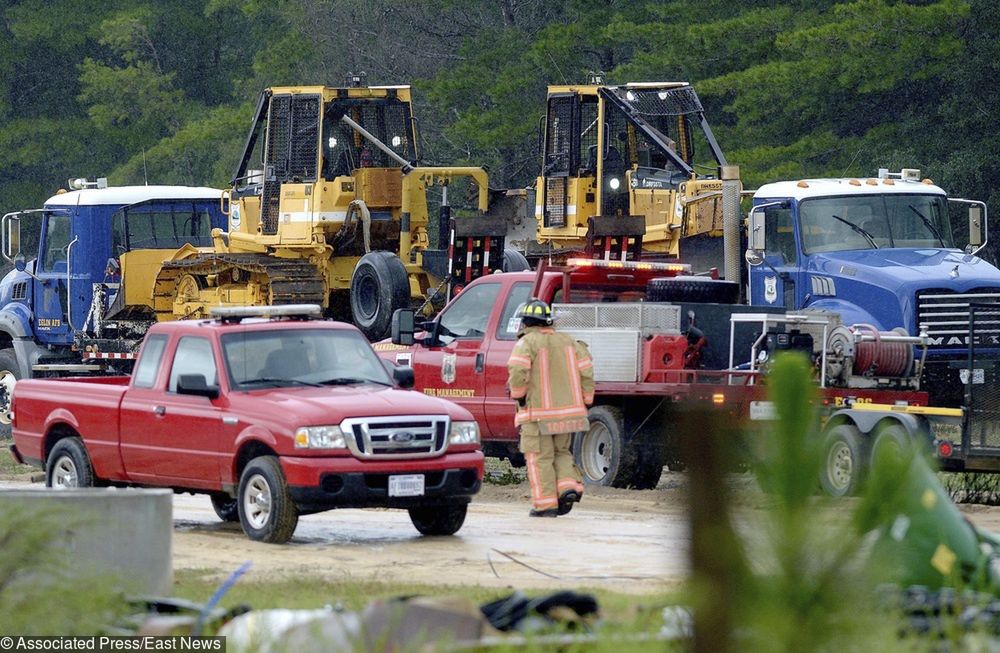
[[[507,360],[521,328],[517,311],[528,301],[531,286],[530,281],[519,281],[508,287],[500,319],[493,327],[494,335],[486,352],[486,399],[483,412],[486,414],[485,427],[490,437],[497,440],[518,439],[517,427],[514,426],[517,404],[507,392]]]

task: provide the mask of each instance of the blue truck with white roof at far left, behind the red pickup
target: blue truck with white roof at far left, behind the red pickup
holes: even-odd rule
[[[103,179],[70,187],[0,220],[2,255],[14,267],[0,281],[0,437],[10,432],[16,379],[129,369],[155,321],[163,261],[211,246],[211,230],[227,227],[214,188],[109,188]]]

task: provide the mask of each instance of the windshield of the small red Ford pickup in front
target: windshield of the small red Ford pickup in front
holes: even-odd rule
[[[222,336],[222,354],[234,390],[392,385],[371,345],[353,331],[268,329],[230,333]]]

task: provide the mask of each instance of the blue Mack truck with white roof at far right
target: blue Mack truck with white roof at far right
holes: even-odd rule
[[[826,350],[869,386],[916,363],[930,405],[955,411],[929,434],[942,466],[1000,471],[1000,270],[976,256],[986,225],[985,204],[949,198],[918,170],[766,184],[747,220],[747,303],[839,316]],[[889,331],[926,349],[880,340]],[[856,347],[863,336],[875,342]],[[848,417],[827,476],[863,470],[875,440],[876,423]]]

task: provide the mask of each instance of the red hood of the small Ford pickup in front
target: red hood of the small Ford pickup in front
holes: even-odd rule
[[[244,396],[250,399],[246,402],[249,411],[272,419],[275,415],[294,416],[297,426],[339,424],[350,417],[385,415],[450,415],[453,420],[472,420],[467,410],[452,402],[374,384],[269,388]]]

